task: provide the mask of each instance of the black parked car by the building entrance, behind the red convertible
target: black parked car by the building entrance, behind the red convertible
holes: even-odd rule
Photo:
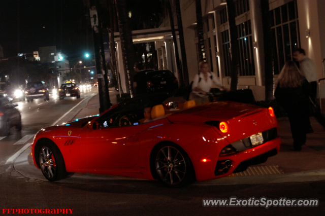
[[[170,70],[143,70],[133,79],[136,82],[136,93],[152,91],[173,92],[178,88],[178,80]]]

